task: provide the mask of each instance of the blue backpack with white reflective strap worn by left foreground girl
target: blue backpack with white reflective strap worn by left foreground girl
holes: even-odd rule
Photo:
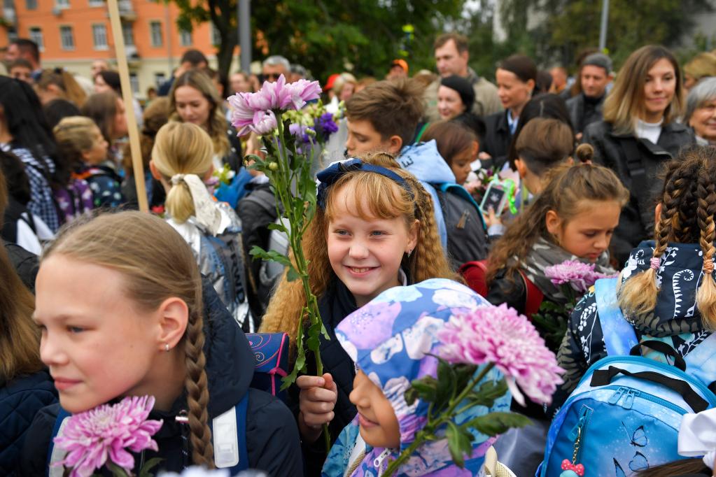
[[[271,393],[285,402],[285,393],[279,392],[279,381],[288,372],[289,335],[286,333],[247,333],[246,338],[251,345],[254,358],[256,358],[251,388]],[[236,406],[213,418],[209,423],[213,437],[214,463],[217,468],[228,468],[231,476],[248,469],[247,409],[248,393],[243,395]],[[57,419],[54,421],[52,438],[47,449],[46,475],[49,477],[64,475],[62,466],[52,466],[64,458],[64,451],[54,448],[54,438],[62,433],[62,427],[71,415],[63,408],[59,408]]]

